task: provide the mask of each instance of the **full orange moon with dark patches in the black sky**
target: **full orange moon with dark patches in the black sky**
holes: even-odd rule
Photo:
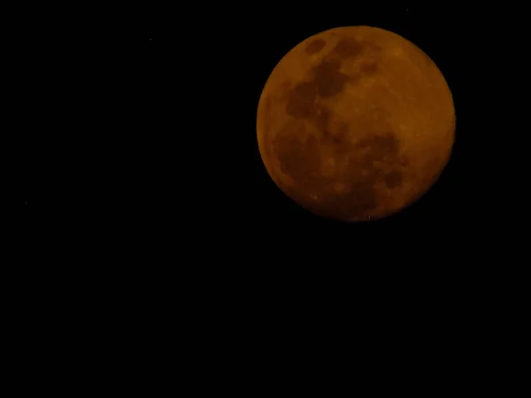
[[[385,218],[414,203],[450,159],[455,110],[422,50],[377,27],[337,27],[296,45],[258,103],[266,170],[326,218]]]

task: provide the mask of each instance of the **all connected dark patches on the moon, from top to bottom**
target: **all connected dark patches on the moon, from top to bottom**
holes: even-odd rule
[[[324,40],[315,39],[305,52],[315,54],[325,46]],[[281,172],[291,177],[297,192],[312,198],[307,203],[310,210],[332,218],[368,217],[381,202],[381,190],[400,188],[404,180],[407,159],[400,157],[400,141],[393,131],[364,132],[365,138],[351,142],[349,124],[335,120],[333,111],[324,105],[323,100],[339,96],[350,82],[378,72],[373,61],[360,64],[355,76],[341,72],[342,60],[359,57],[367,50],[379,48],[340,39],[312,68],[309,78],[289,90],[285,111],[292,122],[276,134],[272,144]],[[314,126],[318,133],[309,132],[306,126]],[[342,165],[333,174],[324,172],[323,147]]]

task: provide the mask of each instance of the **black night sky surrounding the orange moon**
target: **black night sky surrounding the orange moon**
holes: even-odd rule
[[[59,348],[73,358],[65,364],[91,353],[98,364],[116,356],[106,362],[143,369],[167,358],[138,358],[184,347],[195,371],[213,349],[230,350],[219,355],[227,362],[244,345],[250,361],[289,375],[300,362],[350,366],[365,349],[399,364],[393,372],[409,360],[456,379],[432,371],[435,362],[470,379],[477,362],[492,363],[493,341],[520,352],[507,348],[525,330],[516,324],[528,290],[518,283],[528,257],[520,12],[244,7],[169,13],[144,38],[99,34],[91,22],[90,34],[46,26],[4,42],[4,175],[14,183],[4,192],[15,196],[6,212],[22,242],[4,267],[16,274],[4,278],[6,325],[24,363],[12,369],[48,369]],[[292,203],[256,140],[274,65],[309,35],[348,25],[417,44],[443,72],[457,113],[454,153],[435,187],[364,224]],[[39,350],[41,363],[27,360]]]

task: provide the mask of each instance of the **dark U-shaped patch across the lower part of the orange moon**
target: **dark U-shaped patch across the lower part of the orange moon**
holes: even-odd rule
[[[381,202],[381,188],[393,190],[402,185],[404,160],[393,132],[373,134],[355,144],[337,142],[334,158],[344,165],[334,174],[324,172],[326,159],[320,146],[312,134],[278,134],[273,142],[281,172],[293,179],[297,191],[320,198],[311,204],[311,210],[318,214],[364,218]]]

